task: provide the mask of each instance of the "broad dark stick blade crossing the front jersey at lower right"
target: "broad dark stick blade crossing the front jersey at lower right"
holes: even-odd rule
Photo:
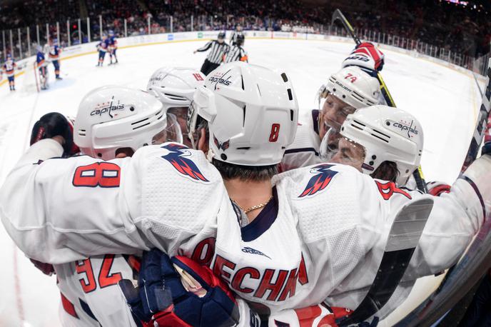
[[[400,208],[390,228],[382,261],[368,294],[350,316],[336,321],[338,326],[363,322],[389,301],[408,268],[432,208],[433,200],[430,197],[411,201]]]

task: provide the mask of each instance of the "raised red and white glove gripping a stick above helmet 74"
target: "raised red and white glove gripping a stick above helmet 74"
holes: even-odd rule
[[[370,42],[363,42],[356,46],[351,54],[343,61],[343,68],[346,66],[359,66],[369,71],[381,71],[384,64],[384,54]]]

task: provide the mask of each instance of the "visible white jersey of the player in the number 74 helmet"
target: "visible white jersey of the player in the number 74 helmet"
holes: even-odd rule
[[[280,171],[289,171],[322,162],[319,156],[318,115],[319,111],[313,110],[311,117],[309,116],[305,122],[298,124],[295,139],[286,148],[285,155],[281,159],[279,165]]]

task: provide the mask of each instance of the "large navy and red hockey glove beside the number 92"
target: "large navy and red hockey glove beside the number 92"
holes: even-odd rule
[[[119,282],[133,314],[146,326],[234,326],[238,307],[210,268],[153,249],[143,255],[138,287]]]

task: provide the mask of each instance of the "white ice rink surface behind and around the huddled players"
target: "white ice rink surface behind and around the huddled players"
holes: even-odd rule
[[[16,79],[15,92],[0,86],[0,184],[29,146],[31,126],[42,115],[59,111],[76,116],[83,96],[98,86],[117,84],[146,88],[161,66],[199,69],[206,54],[193,54],[205,41],[153,44],[118,50],[120,64],[96,67],[97,55],[61,61],[63,81],[48,91],[26,91],[25,75]],[[328,76],[340,69],[354,44],[334,41],[246,40],[249,61],[287,71],[307,116],[315,108],[315,94]],[[383,48],[382,48],[383,49]],[[480,106],[480,94],[472,74],[426,59],[394,51],[385,52],[382,74],[401,108],[422,124],[425,146],[422,168],[427,181],[451,183],[458,176]],[[106,56],[106,63],[108,56]],[[24,89],[23,89],[24,88]],[[302,118],[300,118],[302,120]],[[29,206],[29,198],[26,198]],[[69,208],[67,208],[69,210]],[[14,246],[0,227],[0,326],[59,326],[59,292],[56,277],[44,276]]]

